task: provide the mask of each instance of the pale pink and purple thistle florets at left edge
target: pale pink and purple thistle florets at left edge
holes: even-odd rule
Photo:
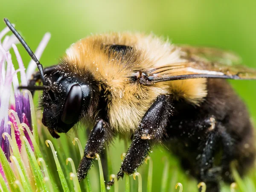
[[[8,121],[12,122],[15,128],[15,138],[20,150],[21,148],[21,140],[20,133],[17,127],[17,122],[15,116],[8,116],[8,109],[12,109],[17,113],[17,117],[21,123],[25,123],[28,125],[30,130],[32,131],[32,122],[31,122],[31,112],[29,105],[29,97],[23,96],[20,93],[20,90],[17,89],[19,85],[19,81],[17,78],[17,72],[20,72],[20,80],[23,86],[27,85],[27,77],[32,75],[32,71],[35,70],[36,64],[34,61],[29,63],[29,67],[27,69],[27,73],[25,73],[25,68],[18,52],[18,49],[15,44],[18,43],[15,35],[6,35],[9,32],[9,28],[6,27],[0,32],[0,136],[4,132],[11,134],[11,127],[8,124]],[[47,33],[44,35],[44,38],[39,45],[36,55],[38,58],[41,57],[44,48],[46,47],[50,38],[50,34]],[[3,41],[2,41],[3,39]],[[14,65],[12,63],[12,57],[9,52],[9,49],[13,48],[17,62],[19,64],[19,69],[15,70]],[[10,98],[11,102],[10,102]],[[14,100],[14,102],[13,102]],[[24,131],[25,137],[28,138],[29,144],[32,146],[31,140],[28,137],[27,131]],[[0,145],[6,154],[6,158],[9,160],[10,157],[10,149],[9,149],[9,141],[4,140],[3,137],[0,137]]]

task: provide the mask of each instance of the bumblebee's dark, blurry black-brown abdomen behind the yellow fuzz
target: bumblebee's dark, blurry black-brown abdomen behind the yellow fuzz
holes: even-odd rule
[[[166,145],[199,181],[209,183],[209,172],[216,182],[221,176],[232,181],[229,167],[233,160],[238,161],[240,174],[254,162],[253,126],[246,106],[227,81],[208,79],[207,89],[200,107],[173,104]]]

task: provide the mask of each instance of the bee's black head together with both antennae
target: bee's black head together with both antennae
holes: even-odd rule
[[[42,64],[38,61],[35,54],[12,26],[7,18],[4,18],[6,25],[17,37],[30,57],[35,61],[39,70],[39,79],[43,86],[35,86],[34,83],[29,86],[20,86],[20,89],[44,90],[41,99],[41,108],[43,108],[43,124],[48,128],[53,137],[58,138],[58,133],[67,133],[83,114],[88,114],[92,104],[93,89],[90,79],[81,81],[81,79],[64,70],[55,69],[52,73],[45,73]],[[86,76],[86,74],[85,74]],[[88,76],[90,76],[88,74]],[[85,78],[86,79],[86,78]],[[95,99],[94,99],[95,100]]]

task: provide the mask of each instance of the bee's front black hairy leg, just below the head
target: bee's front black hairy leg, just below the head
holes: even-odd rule
[[[84,148],[84,156],[79,163],[77,171],[79,181],[86,177],[93,164],[95,154],[99,154],[102,151],[105,146],[105,141],[110,140],[110,137],[111,134],[108,132],[108,123],[99,119],[89,135],[89,139]]]

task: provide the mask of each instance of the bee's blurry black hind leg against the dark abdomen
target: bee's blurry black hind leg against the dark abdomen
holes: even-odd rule
[[[206,120],[210,126],[207,130],[206,142],[202,144],[203,152],[198,157],[200,180],[207,185],[207,192],[219,192],[219,181],[222,179],[222,173],[229,172],[230,158],[232,158],[233,139],[226,132],[226,128],[214,118]],[[221,165],[213,166],[214,156],[219,146],[223,149]]]

